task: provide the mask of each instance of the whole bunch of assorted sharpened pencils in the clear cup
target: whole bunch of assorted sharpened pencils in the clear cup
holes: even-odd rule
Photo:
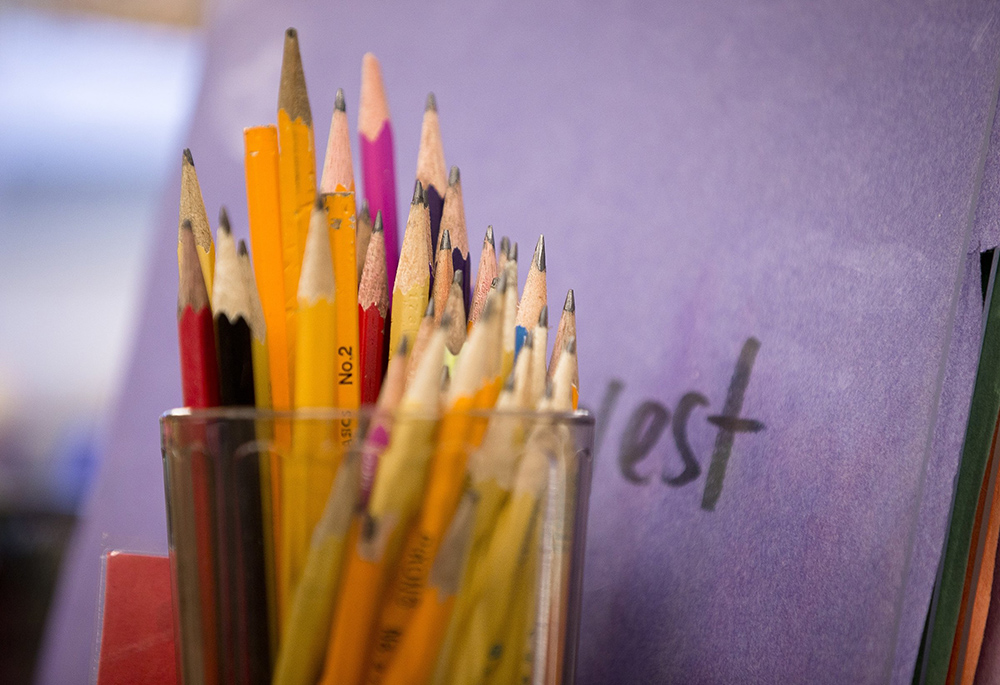
[[[575,466],[554,417],[578,398],[573,291],[546,362],[544,238],[519,293],[517,243],[498,252],[488,228],[471,287],[461,178],[446,172],[433,95],[400,249],[375,57],[362,63],[363,202],[342,91],[317,186],[293,29],[278,93],[277,123],[244,131],[252,249],[225,210],[213,241],[190,151],[182,159],[185,405],[294,411],[219,438],[268,442],[260,461],[192,466],[186,669],[353,684],[507,683],[541,668],[559,682]],[[299,411],[362,405],[332,421]]]

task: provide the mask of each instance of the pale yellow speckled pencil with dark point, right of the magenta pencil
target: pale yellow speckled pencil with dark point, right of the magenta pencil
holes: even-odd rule
[[[427,198],[417,181],[406,220],[403,248],[396,270],[396,285],[390,306],[392,324],[389,330],[389,356],[399,347],[403,336],[413,340],[430,295],[430,217]]]

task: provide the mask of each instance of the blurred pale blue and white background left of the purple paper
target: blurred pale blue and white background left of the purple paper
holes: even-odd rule
[[[0,0],[0,683],[30,682],[201,78],[199,0]]]

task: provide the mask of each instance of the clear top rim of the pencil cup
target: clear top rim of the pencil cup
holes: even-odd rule
[[[337,420],[344,418],[358,418],[367,417],[370,418],[377,414],[380,410],[376,405],[365,405],[356,410],[347,409],[321,409],[321,408],[309,408],[309,409],[296,409],[288,411],[278,411],[275,409],[257,409],[255,407],[212,407],[209,409],[191,409],[190,407],[178,407],[176,409],[169,409],[160,415],[161,421],[186,421],[186,420],[220,420],[220,419],[239,419],[239,420],[294,420],[294,419],[305,419],[305,420]],[[426,419],[440,419],[444,413],[430,413],[430,412],[400,412],[396,410],[391,412],[396,417],[408,416],[411,418],[426,418]],[[511,418],[520,419],[538,419],[545,418],[549,421],[557,421],[559,423],[570,423],[574,425],[593,425],[594,415],[590,413],[587,409],[577,409],[576,411],[536,411],[532,409],[469,409],[462,412],[466,416],[475,418],[490,418],[494,416],[509,416]]]

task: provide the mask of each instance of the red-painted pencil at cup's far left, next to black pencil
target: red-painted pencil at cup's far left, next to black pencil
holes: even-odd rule
[[[219,367],[215,355],[215,329],[212,325],[212,308],[202,275],[198,252],[195,247],[191,222],[185,220],[180,234],[180,287],[177,293],[177,333],[180,343],[181,388],[184,406],[192,409],[215,407],[219,404]],[[201,651],[205,682],[215,683],[218,677],[218,653],[215,638],[215,571],[212,565],[212,499],[211,481],[203,456],[191,457],[190,474],[178,473],[172,479],[172,488],[180,490],[189,483],[194,500],[195,546],[194,559],[178,557],[178,567],[184,566],[186,576],[197,577],[194,582],[179,588],[182,601],[196,602],[200,607],[200,625],[182,626],[185,649],[192,644]],[[183,469],[182,469],[183,470]],[[188,476],[190,475],[190,480]],[[186,534],[185,526],[174,526],[175,534]],[[181,530],[178,530],[181,529]],[[178,545],[188,547],[189,545]],[[183,554],[180,556],[188,557]],[[180,570],[180,569],[179,569]],[[190,612],[188,612],[190,614]],[[183,633],[188,635],[183,635]],[[192,634],[194,633],[194,634]],[[203,650],[203,651],[202,651]],[[202,674],[199,674],[202,675]]]

